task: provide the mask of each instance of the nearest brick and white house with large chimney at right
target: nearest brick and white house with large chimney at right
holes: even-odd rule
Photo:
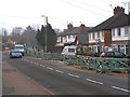
[[[90,29],[89,46],[93,52],[119,51],[130,54],[130,26],[125,9],[114,9],[114,16]]]

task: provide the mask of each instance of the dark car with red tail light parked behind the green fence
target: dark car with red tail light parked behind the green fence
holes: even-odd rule
[[[123,58],[126,55],[121,52],[106,52],[106,53],[102,53],[100,55],[100,57],[114,57],[114,58]]]

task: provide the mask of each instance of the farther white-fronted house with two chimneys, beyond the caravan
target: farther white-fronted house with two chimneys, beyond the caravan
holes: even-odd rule
[[[56,46],[65,45],[87,45],[88,44],[88,30],[90,27],[86,27],[81,24],[79,27],[73,27],[73,24],[67,25],[67,29],[57,34]]]

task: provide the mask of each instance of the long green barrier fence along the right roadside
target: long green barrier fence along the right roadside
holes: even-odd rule
[[[96,72],[130,72],[130,58],[101,58],[81,55],[61,55],[27,51],[28,56],[40,57],[44,60],[62,60],[67,65],[79,65],[81,69],[94,69]]]

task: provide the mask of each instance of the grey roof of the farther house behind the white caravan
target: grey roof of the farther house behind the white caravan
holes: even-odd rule
[[[84,33],[88,33],[90,27],[84,28]],[[57,36],[68,36],[68,34],[78,34],[80,32],[80,27],[74,27],[73,29],[65,29],[63,32],[60,32]]]

